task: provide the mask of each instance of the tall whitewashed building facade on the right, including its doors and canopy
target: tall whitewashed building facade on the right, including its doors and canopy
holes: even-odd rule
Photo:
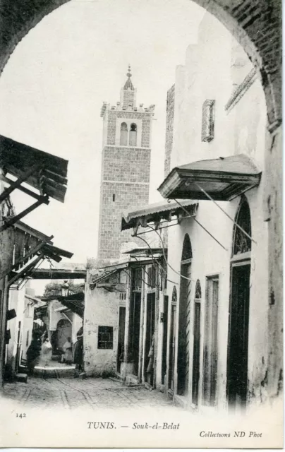
[[[128,223],[140,233],[152,222],[159,233],[168,221],[166,395],[202,413],[239,411],[267,402],[272,371],[265,98],[243,50],[210,14],[171,93],[159,192],[181,210],[176,223],[162,206],[130,213]]]

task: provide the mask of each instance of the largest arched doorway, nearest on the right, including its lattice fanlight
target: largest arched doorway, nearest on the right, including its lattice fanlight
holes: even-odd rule
[[[240,226],[242,230],[238,227]],[[245,235],[245,231],[248,235]],[[248,393],[248,326],[250,307],[250,208],[244,197],[236,214],[231,258],[231,299],[227,396],[229,406],[245,406]]]

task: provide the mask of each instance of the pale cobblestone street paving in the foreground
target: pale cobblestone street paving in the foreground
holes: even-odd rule
[[[6,383],[4,398],[17,400],[27,408],[165,408],[174,407],[163,393],[144,386],[125,386],[112,379],[73,377],[30,377],[28,383]]]

